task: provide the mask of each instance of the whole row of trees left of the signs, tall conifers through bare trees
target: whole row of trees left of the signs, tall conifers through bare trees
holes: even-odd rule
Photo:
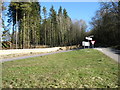
[[[8,17],[8,27],[12,26],[10,41],[16,48],[80,44],[87,28],[84,20],[72,22],[61,6],[58,12],[53,6],[48,12],[39,2],[11,2]]]

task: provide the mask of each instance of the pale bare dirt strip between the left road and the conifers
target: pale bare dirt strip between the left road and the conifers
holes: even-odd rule
[[[35,48],[35,49],[12,49],[0,50],[0,59],[10,59],[22,56],[31,56],[43,53],[57,52],[61,50],[70,50],[78,48],[77,46],[54,47],[54,48]]]

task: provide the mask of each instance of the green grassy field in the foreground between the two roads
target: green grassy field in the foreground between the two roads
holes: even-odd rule
[[[3,88],[116,88],[118,63],[81,49],[3,63]]]

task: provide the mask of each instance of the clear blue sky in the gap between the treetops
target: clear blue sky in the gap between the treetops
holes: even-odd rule
[[[56,11],[58,11],[60,6],[62,6],[62,8],[65,8],[72,20],[75,19],[85,20],[88,25],[88,30],[90,28],[89,22],[91,21],[91,18],[95,16],[96,10],[99,9],[98,2],[42,2],[41,3],[41,7],[46,6],[48,12],[52,5],[54,6]]]

